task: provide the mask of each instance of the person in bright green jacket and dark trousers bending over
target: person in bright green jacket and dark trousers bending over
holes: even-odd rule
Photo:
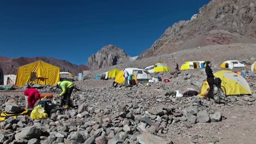
[[[65,109],[68,109],[71,106],[71,94],[74,88],[74,83],[71,81],[60,81],[53,85],[54,87],[60,88],[62,92],[57,98],[61,98],[61,106],[65,105]]]

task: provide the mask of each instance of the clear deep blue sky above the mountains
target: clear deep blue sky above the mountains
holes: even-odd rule
[[[209,1],[3,0],[0,56],[53,57],[79,65],[108,44],[137,56]]]

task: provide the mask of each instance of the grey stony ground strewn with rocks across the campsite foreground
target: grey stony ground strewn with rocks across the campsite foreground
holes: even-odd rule
[[[78,109],[57,111],[49,118],[18,116],[0,123],[1,143],[255,143],[256,74],[246,80],[253,95],[229,96],[227,104],[193,97],[174,98],[171,91],[200,92],[204,69],[181,71],[177,77],[158,74],[171,82],[138,82],[113,88],[113,80],[76,81],[73,104]],[[220,68],[213,68],[214,71]],[[173,78],[175,77],[175,78]],[[49,87],[38,89],[50,92]],[[1,92],[24,106],[23,88]],[[10,101],[10,100],[9,100]]]

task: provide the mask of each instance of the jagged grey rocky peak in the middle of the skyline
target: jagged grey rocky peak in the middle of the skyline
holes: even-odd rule
[[[88,58],[86,65],[90,70],[97,70],[106,66],[116,65],[121,59],[129,57],[124,50],[114,45],[102,47],[95,55]]]

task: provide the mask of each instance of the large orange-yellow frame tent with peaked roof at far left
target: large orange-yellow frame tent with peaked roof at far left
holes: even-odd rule
[[[33,62],[18,68],[16,86],[33,82],[41,85],[54,85],[60,81],[60,68],[42,61]]]

